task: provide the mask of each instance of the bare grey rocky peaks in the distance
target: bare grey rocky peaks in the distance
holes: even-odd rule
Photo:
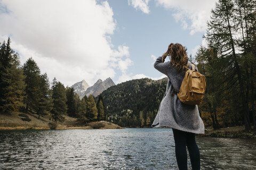
[[[91,87],[89,87],[88,84],[86,86],[86,84],[87,83],[85,82],[85,80],[83,80],[81,82],[75,83],[71,87],[75,89],[75,92],[77,92],[80,98],[83,98],[85,95],[86,96],[93,95],[96,97],[100,95],[102,91],[107,90],[109,87],[116,85],[111,78],[107,78],[104,81],[99,79]]]

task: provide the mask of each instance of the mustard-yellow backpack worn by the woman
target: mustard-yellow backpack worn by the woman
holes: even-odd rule
[[[181,103],[187,105],[198,105],[202,103],[205,94],[205,76],[196,70],[196,66],[193,63],[191,64],[192,70],[188,69],[186,71],[177,96]]]

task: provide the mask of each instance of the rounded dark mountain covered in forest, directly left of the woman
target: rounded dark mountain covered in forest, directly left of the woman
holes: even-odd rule
[[[122,127],[150,126],[165,94],[167,80],[130,80],[103,91],[107,121]]]

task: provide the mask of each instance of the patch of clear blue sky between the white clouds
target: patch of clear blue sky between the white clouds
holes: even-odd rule
[[[182,29],[182,25],[175,21],[172,10],[156,6],[153,1],[149,2],[149,14],[127,6],[126,1],[113,0],[109,1],[109,5],[113,8],[114,18],[118,23],[112,43],[129,47],[133,61],[129,73],[132,75],[161,77],[162,74],[153,68],[154,60],[151,55],[161,56],[170,43],[180,43],[187,47],[188,54],[192,54],[192,50],[202,43],[204,32],[190,35],[190,30]]]

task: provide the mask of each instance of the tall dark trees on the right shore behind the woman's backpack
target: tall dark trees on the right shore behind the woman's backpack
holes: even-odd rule
[[[214,129],[255,125],[256,1],[219,0],[207,22],[207,47],[196,54],[207,87],[200,105]]]

